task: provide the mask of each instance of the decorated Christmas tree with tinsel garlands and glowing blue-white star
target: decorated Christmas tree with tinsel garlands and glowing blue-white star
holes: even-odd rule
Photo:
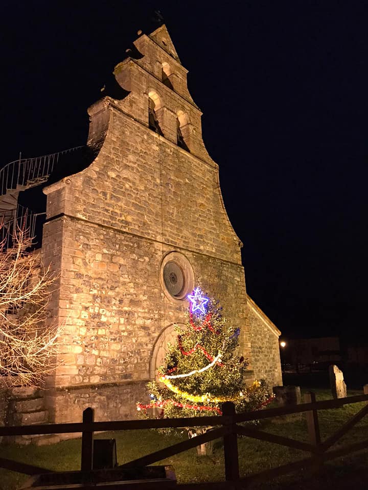
[[[234,402],[237,411],[265,406],[272,400],[266,383],[244,384],[248,363],[238,355],[240,329],[226,322],[219,303],[200,288],[188,299],[186,325],[176,327],[176,342],[168,345],[165,365],[158,369],[159,382],[148,384],[150,403],[138,403],[137,410],[158,408],[160,416],[170,418],[219,415],[225,401]]]

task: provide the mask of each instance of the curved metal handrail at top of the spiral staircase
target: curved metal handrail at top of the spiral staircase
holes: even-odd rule
[[[17,186],[29,188],[46,182],[60,156],[81,148],[83,146],[75,146],[62,152],[35,158],[19,158],[8,163],[0,170],[0,195],[5,195],[10,189],[15,190]]]

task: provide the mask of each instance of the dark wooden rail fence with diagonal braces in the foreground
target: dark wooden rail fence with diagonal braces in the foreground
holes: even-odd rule
[[[315,395],[309,393],[305,396],[305,403],[294,406],[269,408],[254,412],[236,413],[233,403],[223,404],[223,415],[204,416],[197,418],[181,419],[152,419],[152,420],[127,420],[113,422],[94,422],[94,411],[87,408],[83,412],[83,422],[70,424],[47,424],[47,425],[28,425],[19,427],[0,427],[0,436],[14,435],[36,435],[36,434],[63,434],[63,433],[82,433],[82,452],[81,470],[90,471],[93,469],[93,440],[96,431],[117,431],[117,430],[139,430],[139,429],[159,429],[175,428],[188,426],[211,426],[215,427],[203,435],[193,437],[178,444],[174,444],[165,449],[155,451],[138,459],[134,459],[120,465],[119,468],[144,467],[162,459],[171,457],[175,454],[187,451],[211,440],[223,438],[223,451],[225,459],[225,481],[208,483],[186,483],[179,484],[182,490],[229,490],[245,488],[250,482],[265,481],[271,478],[285,475],[302,468],[318,468],[325,461],[344,456],[355,451],[368,448],[368,440],[350,444],[338,449],[331,447],[354,425],[359,422],[368,412],[368,404],[359,410],[347,423],[342,425],[333,435],[321,441],[318,425],[318,410],[339,408],[346,404],[368,402],[368,394],[364,389],[364,395],[340,398],[337,400],[315,401]],[[287,415],[292,413],[306,412],[307,429],[309,443],[301,442],[290,437],[270,434],[255,427],[238,425],[241,422],[269,419],[275,416]],[[277,468],[262,471],[257,474],[240,477],[239,457],[238,457],[238,435],[244,435],[269,443],[280,444],[282,446],[300,449],[308,453],[308,457],[284,464]],[[31,464],[19,463],[13,460],[0,458],[0,468],[18,471],[28,475],[39,473],[51,473],[51,470],[35,467]]]

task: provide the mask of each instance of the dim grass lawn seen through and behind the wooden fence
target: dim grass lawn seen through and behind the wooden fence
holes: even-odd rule
[[[331,398],[328,390],[315,390],[317,400]],[[349,391],[348,396],[362,394],[361,391]],[[345,405],[334,410],[321,410],[319,423],[321,438],[325,439],[347,422],[364,403]],[[304,414],[285,416],[271,422],[263,421],[263,430],[274,434],[293,437],[307,442],[307,429]],[[363,419],[338,445],[347,445],[368,437],[368,420]],[[135,459],[158,449],[175,444],[187,438],[186,434],[164,436],[154,430],[109,432],[96,435],[96,438],[113,437],[117,441],[118,463]],[[281,464],[308,457],[308,453],[286,448],[276,444],[261,442],[248,437],[238,439],[239,463],[241,475],[278,467]],[[39,465],[56,471],[78,470],[80,468],[81,439],[71,439],[50,446],[0,446],[0,455],[29,464]],[[365,477],[368,451],[361,451],[349,457],[339,458],[325,465],[318,475],[311,470],[300,471],[282,478],[253,485],[252,488],[265,489],[301,489],[310,488],[368,488],[368,476]],[[195,449],[178,454],[156,464],[172,464],[179,483],[218,481],[224,479],[224,459],[222,441],[215,442],[211,457],[197,457]],[[14,490],[28,477],[18,473],[0,470],[0,490]]]

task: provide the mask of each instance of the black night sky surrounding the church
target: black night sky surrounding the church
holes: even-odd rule
[[[365,340],[365,0],[3,0],[2,165],[85,143],[88,105],[154,9],[203,111],[249,295],[285,337]]]

